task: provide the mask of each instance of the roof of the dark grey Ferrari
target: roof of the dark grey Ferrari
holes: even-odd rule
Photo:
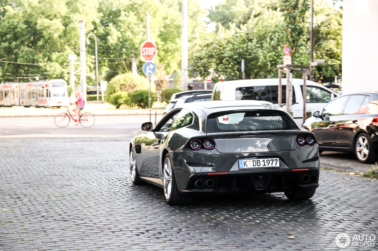
[[[213,109],[221,107],[240,107],[240,106],[265,106],[274,107],[273,103],[259,100],[215,100],[215,101],[202,101],[188,103],[188,105],[182,104],[182,106],[201,106],[204,109]]]

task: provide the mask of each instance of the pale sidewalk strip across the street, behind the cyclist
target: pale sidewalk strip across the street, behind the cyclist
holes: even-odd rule
[[[70,110],[73,108],[70,107]],[[36,108],[36,107],[0,107],[0,117],[39,117],[55,116],[60,112],[65,112],[65,108]],[[115,109],[115,106],[109,103],[91,103],[85,105],[83,112],[90,112],[94,115],[147,115],[149,109]],[[163,109],[152,109],[151,113],[155,115],[163,114]]]

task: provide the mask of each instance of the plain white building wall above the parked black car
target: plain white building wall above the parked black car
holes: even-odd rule
[[[378,92],[378,0],[344,0],[342,94]]]

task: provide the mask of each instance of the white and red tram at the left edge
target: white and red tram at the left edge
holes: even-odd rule
[[[62,79],[0,84],[0,106],[60,107],[69,103]]]

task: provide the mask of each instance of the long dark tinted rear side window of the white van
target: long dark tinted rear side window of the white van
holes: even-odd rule
[[[260,100],[278,104],[278,86],[239,87],[235,90],[236,100]],[[296,102],[293,88],[293,103]],[[286,85],[282,85],[282,103],[286,103]]]

